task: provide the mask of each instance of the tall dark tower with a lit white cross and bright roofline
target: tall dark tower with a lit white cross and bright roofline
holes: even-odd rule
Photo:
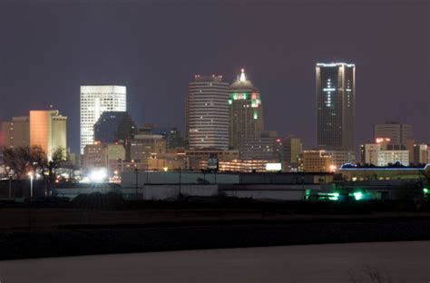
[[[317,63],[317,145],[354,151],[356,66]]]

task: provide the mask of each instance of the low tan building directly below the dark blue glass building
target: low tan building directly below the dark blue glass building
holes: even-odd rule
[[[112,175],[116,168],[110,166],[111,162],[115,163],[124,159],[125,149],[122,144],[94,142],[87,144],[83,150],[83,169],[91,171],[104,168]]]

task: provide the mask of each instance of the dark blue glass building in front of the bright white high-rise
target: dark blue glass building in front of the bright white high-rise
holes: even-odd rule
[[[131,140],[136,132],[137,127],[128,112],[103,112],[94,124],[94,141],[125,143]]]

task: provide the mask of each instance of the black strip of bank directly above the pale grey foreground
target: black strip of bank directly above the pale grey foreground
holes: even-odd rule
[[[3,232],[0,259],[429,239],[430,219],[426,217],[81,225],[54,231]]]

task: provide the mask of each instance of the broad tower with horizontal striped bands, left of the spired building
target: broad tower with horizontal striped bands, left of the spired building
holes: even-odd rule
[[[191,150],[229,149],[229,84],[221,75],[195,75],[186,99],[185,127]]]

